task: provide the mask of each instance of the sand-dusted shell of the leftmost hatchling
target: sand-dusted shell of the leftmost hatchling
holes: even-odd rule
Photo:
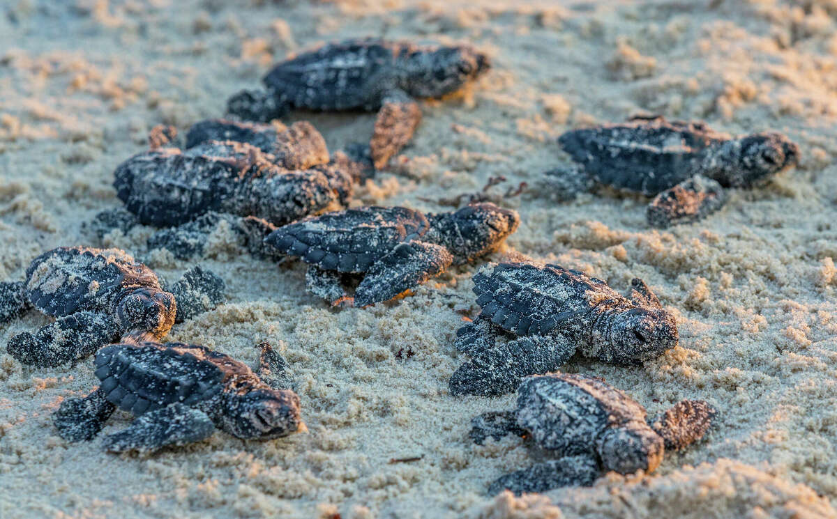
[[[55,317],[107,308],[135,287],[162,291],[157,274],[119,249],[58,247],[32,261],[26,280],[29,301]]]

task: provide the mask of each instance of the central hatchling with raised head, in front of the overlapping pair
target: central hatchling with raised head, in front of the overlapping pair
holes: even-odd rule
[[[308,290],[332,303],[347,299],[350,277],[362,276],[354,304],[363,307],[496,250],[519,224],[516,211],[491,203],[427,215],[369,206],[280,227],[265,243],[308,263]]]

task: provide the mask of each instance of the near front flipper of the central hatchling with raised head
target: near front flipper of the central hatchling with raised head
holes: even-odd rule
[[[400,243],[369,267],[355,290],[355,306],[388,301],[430,277],[438,276],[453,262],[450,252],[434,243]]]

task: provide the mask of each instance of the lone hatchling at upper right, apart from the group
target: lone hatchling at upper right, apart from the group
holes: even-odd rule
[[[662,117],[571,130],[558,143],[580,166],[547,172],[562,196],[595,182],[655,196],[646,216],[657,227],[699,220],[723,206],[723,188],[756,186],[799,158],[798,146],[778,133],[733,137]]]

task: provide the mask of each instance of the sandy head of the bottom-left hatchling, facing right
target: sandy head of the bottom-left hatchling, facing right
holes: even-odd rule
[[[225,420],[225,429],[231,435],[268,440],[305,430],[300,397],[290,389],[254,389],[234,399]]]

